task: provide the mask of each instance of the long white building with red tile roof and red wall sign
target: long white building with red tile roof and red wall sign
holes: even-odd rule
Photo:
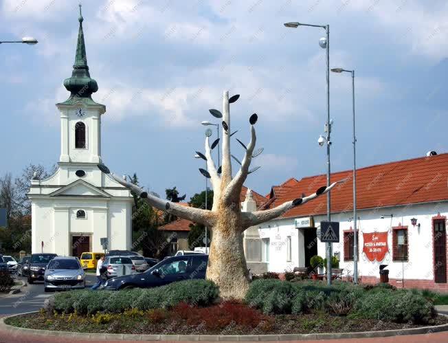
[[[333,254],[343,276],[353,273],[352,172],[331,175],[346,179],[332,190],[332,221],[339,221],[339,243]],[[290,179],[275,186],[265,208],[277,206],[326,183],[325,175]],[[420,157],[357,170],[358,269],[362,283],[379,282],[379,266],[387,265],[390,283],[448,291],[447,216],[448,154]],[[282,217],[258,225],[260,262],[269,272],[308,267],[314,255],[326,256],[320,223],[326,221],[326,197],[293,208]],[[323,272],[323,270],[322,270]]]

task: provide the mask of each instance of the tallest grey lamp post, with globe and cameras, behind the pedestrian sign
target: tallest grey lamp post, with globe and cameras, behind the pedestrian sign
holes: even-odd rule
[[[325,29],[326,37],[322,37],[319,40],[319,45],[323,49],[326,49],[326,186],[330,186],[331,178],[331,168],[330,168],[330,133],[331,133],[331,122],[330,122],[330,25],[313,25],[298,23],[297,21],[291,23],[284,23],[286,27],[297,28],[299,26],[311,26],[311,27],[321,27]],[[321,139],[320,139],[321,140]],[[319,140],[319,141],[320,141]],[[327,221],[331,221],[331,191],[326,193],[326,217]],[[328,285],[331,285],[331,255],[332,255],[332,245],[331,243],[326,243],[326,280]]]

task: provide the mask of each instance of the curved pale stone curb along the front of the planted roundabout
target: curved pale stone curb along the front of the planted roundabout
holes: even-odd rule
[[[28,312],[28,313],[36,313]],[[21,313],[25,314],[25,313]],[[435,325],[432,327],[419,327],[413,329],[387,330],[387,331],[363,331],[352,333],[302,333],[291,335],[135,335],[126,333],[77,333],[69,331],[36,330],[13,327],[5,324],[5,320],[15,316],[0,318],[0,333],[6,331],[14,335],[37,335],[43,337],[58,337],[61,339],[85,339],[85,340],[139,340],[139,341],[293,341],[293,340],[338,340],[350,338],[383,338],[401,335],[424,335],[448,331],[448,324]],[[442,315],[445,316],[445,315]]]

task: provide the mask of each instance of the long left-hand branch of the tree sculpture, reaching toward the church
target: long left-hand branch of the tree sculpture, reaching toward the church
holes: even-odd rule
[[[100,168],[100,170],[105,173],[104,168]],[[174,214],[176,217],[188,219],[194,223],[201,223],[203,225],[213,226],[216,223],[216,214],[212,211],[202,210],[201,208],[181,206],[178,203],[160,199],[152,194],[148,194],[148,192],[144,191],[139,186],[122,179],[122,177],[117,177],[113,173],[109,173],[109,175],[122,186],[137,193],[142,199],[145,199],[150,206],[157,208],[157,210],[162,210],[170,214]]]

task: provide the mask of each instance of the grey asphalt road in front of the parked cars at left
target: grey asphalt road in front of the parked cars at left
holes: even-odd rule
[[[26,278],[15,277],[24,280],[26,283]],[[91,287],[95,283],[95,274],[87,274],[86,287]],[[52,293],[43,291],[43,281],[37,281],[33,285],[22,287],[22,291],[18,294],[2,295],[0,296],[0,316],[38,311],[43,307],[43,302],[49,296],[52,296]]]

